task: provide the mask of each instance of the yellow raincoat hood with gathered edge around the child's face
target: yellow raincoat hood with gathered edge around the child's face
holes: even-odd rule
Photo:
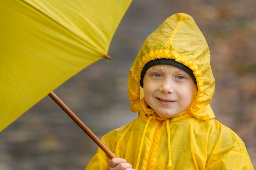
[[[193,18],[184,13],[167,18],[144,41],[128,76],[129,101],[132,112],[152,111],[144,105],[143,89],[140,87],[141,71],[144,65],[154,59],[174,59],[189,67],[195,75],[198,92],[189,113],[201,120],[215,118],[209,105],[214,93],[215,80],[210,66],[210,51],[207,42]]]

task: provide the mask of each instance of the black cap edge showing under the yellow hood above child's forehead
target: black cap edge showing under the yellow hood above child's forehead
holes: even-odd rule
[[[141,87],[143,87],[144,75],[146,74],[147,70],[154,65],[173,65],[177,68],[180,68],[181,70],[184,70],[186,73],[188,73],[189,76],[191,76],[191,78],[193,79],[194,83],[197,84],[195,75],[193,74],[193,71],[190,68],[188,68],[186,65],[179,63],[179,62],[175,61],[174,59],[162,58],[162,59],[155,59],[155,60],[152,60],[152,61],[149,61],[148,63],[146,63],[143,70],[141,71],[140,82],[139,82]]]

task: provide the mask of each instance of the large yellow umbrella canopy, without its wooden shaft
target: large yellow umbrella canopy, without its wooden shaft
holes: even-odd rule
[[[0,131],[108,53],[131,0],[0,3]]]

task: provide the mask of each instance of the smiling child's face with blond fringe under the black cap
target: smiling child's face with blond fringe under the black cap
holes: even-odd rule
[[[175,66],[157,67],[148,69],[144,76],[144,98],[159,116],[173,118],[190,106],[197,86],[189,74]]]

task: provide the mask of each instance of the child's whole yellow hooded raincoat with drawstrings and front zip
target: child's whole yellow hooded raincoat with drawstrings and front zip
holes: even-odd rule
[[[194,101],[175,118],[152,114],[144,103],[141,70],[157,58],[175,59],[188,66],[197,81]],[[204,36],[191,16],[172,15],[146,38],[130,69],[130,109],[139,113],[138,118],[103,136],[102,141],[138,170],[253,170],[243,141],[213,119],[209,103],[214,87]],[[98,149],[86,170],[106,170],[108,162]]]

